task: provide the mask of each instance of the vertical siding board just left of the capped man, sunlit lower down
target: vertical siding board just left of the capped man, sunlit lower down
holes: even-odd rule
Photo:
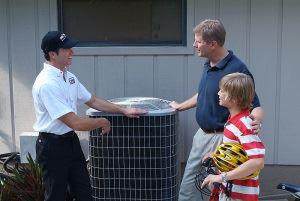
[[[36,74],[35,1],[11,0],[11,60],[15,118],[15,145],[19,134],[32,130],[35,120],[31,87]],[[24,115],[26,114],[26,115]]]

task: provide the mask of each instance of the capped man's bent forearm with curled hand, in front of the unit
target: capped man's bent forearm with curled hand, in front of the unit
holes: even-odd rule
[[[102,128],[102,134],[110,131],[110,122],[105,118],[79,117],[74,112],[69,112],[58,119],[77,131],[90,131],[97,128]]]

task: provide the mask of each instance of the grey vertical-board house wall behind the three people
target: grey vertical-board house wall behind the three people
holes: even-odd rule
[[[71,71],[96,96],[151,96],[184,101],[197,92],[204,59],[192,48],[192,28],[221,19],[225,46],[248,64],[265,110],[261,138],[266,163],[299,165],[297,153],[300,1],[187,0],[187,47],[78,47]],[[74,16],[76,20],[76,16]],[[35,121],[31,87],[44,61],[40,41],[57,29],[56,0],[0,0],[0,153],[19,150],[19,135]],[[87,30],[88,31],[88,30]],[[86,108],[79,113],[84,115]],[[180,160],[198,126],[195,110],[180,113]],[[85,139],[86,133],[80,133]]]

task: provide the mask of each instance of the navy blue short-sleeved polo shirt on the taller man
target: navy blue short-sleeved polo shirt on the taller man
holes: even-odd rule
[[[222,129],[228,119],[229,111],[219,105],[219,81],[224,75],[240,72],[251,76],[247,66],[238,59],[232,51],[216,66],[211,67],[210,62],[204,64],[202,78],[198,88],[196,120],[202,129]],[[254,79],[253,79],[254,81]],[[259,107],[260,102],[255,94],[253,107]]]

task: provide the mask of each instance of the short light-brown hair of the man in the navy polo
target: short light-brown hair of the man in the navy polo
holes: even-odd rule
[[[205,42],[216,41],[221,47],[225,43],[226,31],[219,20],[204,20],[193,29],[193,32],[201,35]]]

